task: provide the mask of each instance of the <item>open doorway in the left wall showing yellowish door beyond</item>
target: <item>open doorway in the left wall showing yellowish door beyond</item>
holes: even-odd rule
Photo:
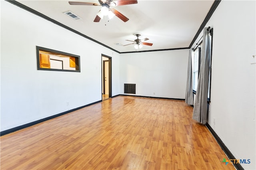
[[[112,97],[111,57],[102,54],[102,101]]]

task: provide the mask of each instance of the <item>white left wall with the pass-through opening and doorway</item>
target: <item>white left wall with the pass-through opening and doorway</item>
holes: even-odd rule
[[[112,57],[112,93],[119,94],[120,54],[0,3],[1,131],[100,101],[102,53]],[[37,70],[36,45],[80,55],[81,72]]]

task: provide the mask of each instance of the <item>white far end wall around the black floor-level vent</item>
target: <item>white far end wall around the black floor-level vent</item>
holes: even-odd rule
[[[121,54],[120,93],[124,83],[135,83],[139,96],[185,99],[188,51]]]

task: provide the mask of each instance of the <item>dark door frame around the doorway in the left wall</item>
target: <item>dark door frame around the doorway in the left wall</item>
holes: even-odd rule
[[[105,78],[105,77],[103,77],[104,76],[103,75],[104,61],[102,61],[102,57],[108,58],[108,93],[109,93],[108,97],[110,98],[110,97],[112,97],[112,57],[110,57],[108,55],[101,54],[101,73],[102,73],[102,75],[101,75],[101,86],[103,85],[103,82],[102,82],[103,78]],[[105,84],[105,82],[104,82],[104,84]],[[104,87],[104,89],[105,89],[105,87]],[[101,93],[103,94],[104,92],[102,91]]]

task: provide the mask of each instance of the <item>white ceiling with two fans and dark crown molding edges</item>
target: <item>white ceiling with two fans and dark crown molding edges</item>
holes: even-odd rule
[[[200,25],[204,21],[214,0],[138,0],[138,4],[114,7],[129,18],[123,22],[114,16],[109,22],[93,22],[101,6],[70,5],[68,0],[17,0],[100,43],[119,52],[136,51],[133,34],[140,33],[140,39],[152,46],[143,45],[140,51],[189,47]],[[79,0],[70,0],[76,1]],[[94,2],[98,0],[83,0]],[[110,7],[113,8],[113,7]],[[72,11],[82,18],[74,20],[63,12]],[[106,24],[106,25],[105,25]]]

